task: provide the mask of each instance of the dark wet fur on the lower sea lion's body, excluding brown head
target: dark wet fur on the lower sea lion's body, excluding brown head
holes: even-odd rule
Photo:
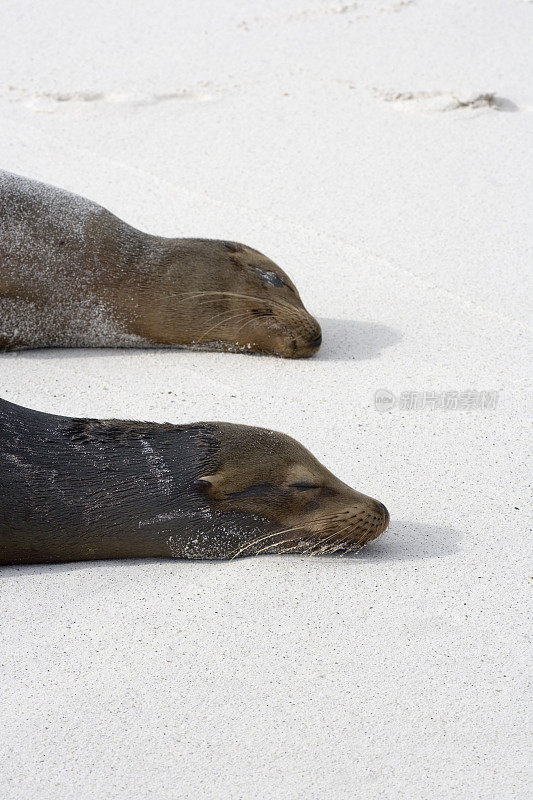
[[[227,557],[246,515],[213,513],[195,486],[217,450],[209,424],[69,419],[0,400],[0,563]]]

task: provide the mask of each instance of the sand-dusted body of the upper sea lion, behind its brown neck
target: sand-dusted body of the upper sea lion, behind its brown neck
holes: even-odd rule
[[[95,230],[113,240],[119,225],[90,200],[0,172],[0,350],[120,343],[94,248]]]

